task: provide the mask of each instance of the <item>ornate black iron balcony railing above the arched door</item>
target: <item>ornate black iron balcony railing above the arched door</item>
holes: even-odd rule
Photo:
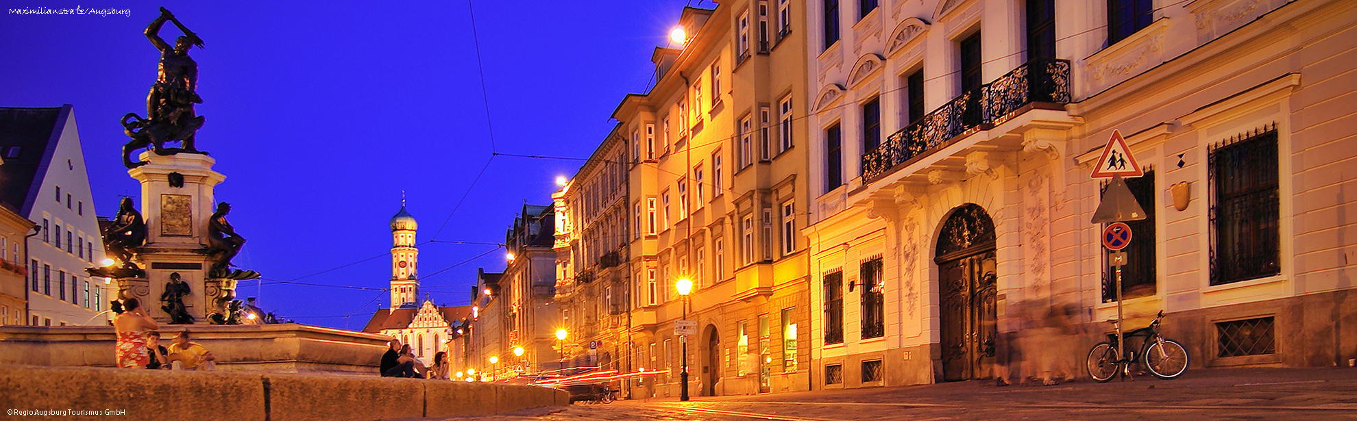
[[[862,156],[863,181],[932,152],[981,126],[1007,120],[1033,103],[1069,103],[1069,61],[1037,58],[938,107]]]

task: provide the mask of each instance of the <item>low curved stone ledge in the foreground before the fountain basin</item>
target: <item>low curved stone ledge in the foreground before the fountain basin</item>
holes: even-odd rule
[[[5,409],[104,412],[90,418],[117,414],[144,421],[452,417],[570,402],[562,390],[535,386],[33,365],[0,365],[0,390]]]

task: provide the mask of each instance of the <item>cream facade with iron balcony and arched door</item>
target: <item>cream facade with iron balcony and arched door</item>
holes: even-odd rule
[[[1090,222],[1113,130],[1147,169],[1129,324],[1164,310],[1193,368],[1357,353],[1357,5],[806,8],[814,389],[1087,375],[1033,367],[1083,367],[1117,314]],[[1018,340],[1053,314],[1084,334]]]

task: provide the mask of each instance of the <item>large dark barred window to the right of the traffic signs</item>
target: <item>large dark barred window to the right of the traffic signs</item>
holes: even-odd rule
[[[1213,148],[1210,284],[1281,273],[1277,127]]]

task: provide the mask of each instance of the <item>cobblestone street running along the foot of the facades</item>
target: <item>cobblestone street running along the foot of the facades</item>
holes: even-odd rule
[[[1193,370],[1175,380],[961,382],[754,397],[619,401],[476,420],[1357,420],[1357,370]],[[467,420],[467,418],[440,418]]]

